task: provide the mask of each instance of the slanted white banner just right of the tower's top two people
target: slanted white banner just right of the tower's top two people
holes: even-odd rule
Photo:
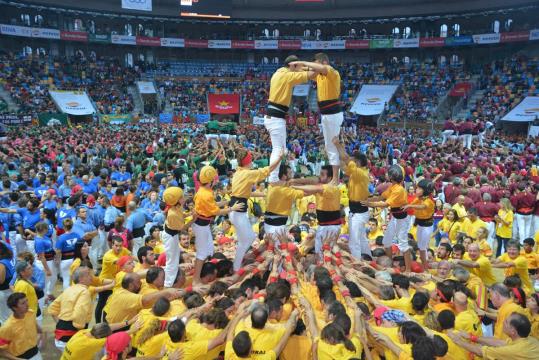
[[[378,115],[391,100],[398,85],[363,85],[351,112],[359,115]]]

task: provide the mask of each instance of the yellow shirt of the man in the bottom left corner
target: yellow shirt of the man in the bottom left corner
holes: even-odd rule
[[[5,306],[3,304],[2,306]],[[0,327],[0,349],[18,357],[37,346],[36,314],[28,310],[22,319],[10,315]]]

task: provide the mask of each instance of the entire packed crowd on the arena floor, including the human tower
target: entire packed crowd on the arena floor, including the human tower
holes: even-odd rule
[[[0,356],[41,359],[51,316],[64,360],[536,359],[535,141],[343,123],[315,59],[265,129],[11,129]],[[287,129],[309,79],[320,130]]]

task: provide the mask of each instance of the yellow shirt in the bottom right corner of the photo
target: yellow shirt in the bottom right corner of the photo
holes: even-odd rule
[[[535,360],[539,354],[539,340],[528,336],[515,341],[509,340],[505,346],[483,346],[483,359],[486,360]]]

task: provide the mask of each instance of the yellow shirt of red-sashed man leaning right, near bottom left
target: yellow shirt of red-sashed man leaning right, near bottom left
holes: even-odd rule
[[[50,304],[49,314],[60,320],[72,321],[77,329],[83,329],[93,316],[92,294],[87,286],[71,285]]]

